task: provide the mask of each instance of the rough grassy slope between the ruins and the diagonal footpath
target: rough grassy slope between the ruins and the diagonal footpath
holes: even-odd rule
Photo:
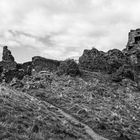
[[[87,71],[81,77],[54,75],[50,84],[47,78],[30,80],[26,92],[65,110],[106,138],[139,140],[140,92],[136,83],[128,79],[113,83],[108,75]]]

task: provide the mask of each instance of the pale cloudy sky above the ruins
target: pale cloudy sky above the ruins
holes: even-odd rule
[[[18,62],[123,49],[136,28],[140,0],[0,0],[0,52],[8,45]]]

